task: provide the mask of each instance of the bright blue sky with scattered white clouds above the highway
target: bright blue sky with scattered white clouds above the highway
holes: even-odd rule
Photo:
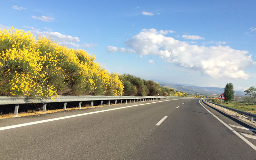
[[[256,1],[1,2],[0,27],[84,49],[111,73],[256,87]]]

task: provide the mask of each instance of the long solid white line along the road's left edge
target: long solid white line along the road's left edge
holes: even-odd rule
[[[176,100],[181,100],[181,99],[176,99]],[[170,101],[170,100],[164,100],[164,101]],[[90,115],[90,114],[94,114],[94,113],[107,112],[107,111],[116,110],[116,109],[123,109],[123,108],[129,108],[129,107],[134,107],[134,106],[141,106],[141,105],[147,105],[147,104],[152,104],[152,103],[164,102],[164,101],[156,101],[156,102],[144,103],[144,104],[139,104],[139,105],[132,105],[132,106],[126,106],[126,107],[120,107],[120,108],[113,108],[113,109],[106,109],[106,110],[95,111],[95,112],[89,112],[89,113],[82,113],[82,114],[73,115],[73,116],[64,116],[64,117],[59,117],[59,118],[46,119],[46,120],[42,120],[42,121],[36,121],[36,122],[29,122],[29,123],[24,123],[24,124],[10,125],[10,126],[6,126],[6,127],[0,127],[0,131],[2,131],[2,130],[7,130],[7,129],[11,129],[11,128],[23,127],[23,126],[27,126],[27,125],[33,125],[33,124],[51,122],[51,121],[56,121],[56,120],[60,120],[60,119],[72,118],[72,117],[77,117],[77,116],[85,116],[85,115]]]

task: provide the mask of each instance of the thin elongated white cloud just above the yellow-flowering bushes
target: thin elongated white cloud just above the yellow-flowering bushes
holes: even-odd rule
[[[60,45],[65,45],[67,47],[73,47],[73,48],[93,48],[97,44],[92,44],[92,43],[82,43],[82,44],[77,44],[80,42],[78,37],[73,37],[73,36],[67,36],[67,35],[62,35],[59,32],[52,32],[52,29],[44,27],[47,31],[40,31],[40,29],[36,29],[34,27],[28,27],[28,26],[23,26],[25,28],[29,28],[30,32],[34,35],[39,35],[39,36],[45,36],[45,37],[51,37],[54,41],[57,41]]]

